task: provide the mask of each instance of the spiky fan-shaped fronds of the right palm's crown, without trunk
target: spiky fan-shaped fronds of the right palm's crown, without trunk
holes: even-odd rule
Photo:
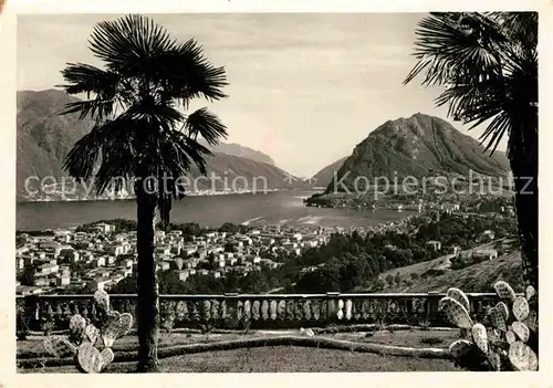
[[[419,22],[418,62],[404,84],[424,74],[422,85],[446,86],[436,104],[448,104],[448,116],[471,128],[489,123],[480,139],[493,153],[503,136],[522,128],[515,123],[534,122],[536,21],[532,12],[431,13]]]

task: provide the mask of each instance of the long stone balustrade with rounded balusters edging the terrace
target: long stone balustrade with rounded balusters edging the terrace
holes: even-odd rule
[[[467,294],[471,315],[481,319],[495,294]],[[442,293],[396,294],[225,294],[160,295],[161,326],[171,328],[293,328],[330,324],[407,324],[448,326],[438,312]],[[111,306],[135,315],[136,295],[111,294]],[[17,296],[18,332],[59,331],[72,315],[97,318],[93,295]]]

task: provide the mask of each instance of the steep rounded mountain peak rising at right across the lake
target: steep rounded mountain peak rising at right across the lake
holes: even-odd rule
[[[388,120],[372,132],[344,160],[337,178],[345,187],[354,187],[357,177],[374,182],[377,177],[393,179],[396,175],[398,178],[437,174],[467,177],[469,170],[503,176],[509,170],[509,161],[503,153],[493,156],[484,153],[478,140],[461,134],[448,122],[418,113],[409,118]],[[333,189],[334,181],[331,181],[326,191]]]

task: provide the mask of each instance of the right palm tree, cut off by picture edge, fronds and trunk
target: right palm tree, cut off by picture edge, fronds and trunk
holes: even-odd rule
[[[526,284],[538,290],[538,13],[430,13],[416,31],[418,63],[404,84],[441,86],[438,106],[495,150],[503,136],[514,177],[519,240]]]

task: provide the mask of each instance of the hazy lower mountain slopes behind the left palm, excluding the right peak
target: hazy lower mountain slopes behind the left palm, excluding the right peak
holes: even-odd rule
[[[58,181],[66,177],[62,170],[65,156],[74,143],[87,134],[93,124],[91,119],[80,120],[75,114],[60,116],[65,104],[77,101],[63,91],[21,91],[18,92],[18,138],[17,138],[17,193],[18,200],[33,200],[25,189],[25,179],[36,176],[40,179],[52,176]],[[201,178],[198,169],[192,169],[189,178],[195,180],[198,190],[228,189],[282,189],[301,188],[305,183],[296,177],[274,166],[265,154],[238,144],[219,144],[211,148],[208,157],[208,175],[217,177],[215,185]],[[241,177],[234,179],[236,177]],[[263,178],[261,178],[263,177]],[[257,179],[255,179],[257,178]],[[32,182],[32,190],[38,187]],[[45,182],[45,183],[51,183]],[[59,199],[52,195],[53,199]]]

